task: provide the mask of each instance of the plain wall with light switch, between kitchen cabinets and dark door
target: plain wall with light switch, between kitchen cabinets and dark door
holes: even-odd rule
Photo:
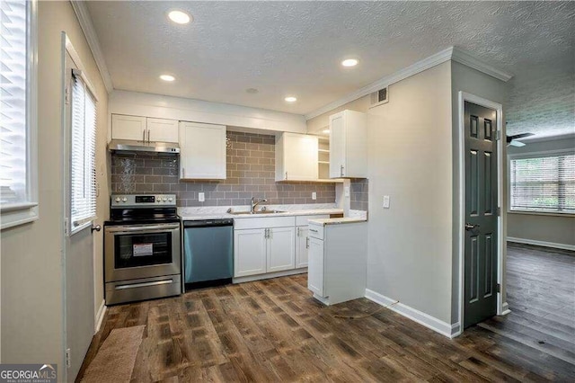
[[[451,320],[451,62],[390,85],[369,110],[367,289]],[[391,208],[383,209],[384,195]]]

